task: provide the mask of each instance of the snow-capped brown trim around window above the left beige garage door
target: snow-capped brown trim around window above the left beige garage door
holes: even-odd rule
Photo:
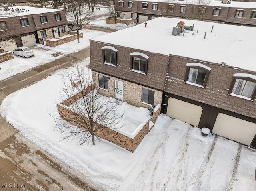
[[[196,84],[196,83],[188,82],[188,73],[189,73],[189,69],[190,68],[206,71],[203,85],[199,85],[199,84]],[[186,64],[186,73],[185,73],[185,77],[184,77],[184,83],[205,88],[206,84],[207,84],[207,81],[209,79],[210,71],[211,71],[211,68],[206,66],[206,65],[204,65],[204,64],[201,64],[201,63],[187,63]]]

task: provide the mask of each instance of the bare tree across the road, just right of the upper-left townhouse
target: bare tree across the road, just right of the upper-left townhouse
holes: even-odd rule
[[[93,20],[93,14],[84,5],[84,0],[66,0],[66,4],[68,4],[67,14],[76,23],[77,42],[79,43],[79,29]]]

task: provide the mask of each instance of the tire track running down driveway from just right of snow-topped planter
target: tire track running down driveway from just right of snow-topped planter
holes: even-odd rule
[[[210,161],[210,158],[211,158],[211,155],[212,155],[212,152],[214,150],[214,147],[215,147],[215,144],[217,142],[217,138],[218,136],[215,135],[214,136],[214,140],[212,142],[212,146],[210,147],[209,149],[209,152],[206,156],[206,158],[204,159],[204,161],[202,162],[202,164],[200,165],[200,167],[198,167],[198,170],[195,171],[191,178],[190,178],[190,181],[187,183],[187,185],[194,185],[196,186],[197,188],[194,188],[193,190],[196,190],[196,189],[199,189],[200,190],[200,186],[201,186],[201,178],[204,174],[204,172],[206,171],[206,167]]]

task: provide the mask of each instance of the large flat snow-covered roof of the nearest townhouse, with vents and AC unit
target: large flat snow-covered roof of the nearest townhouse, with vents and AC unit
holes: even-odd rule
[[[194,31],[186,30],[185,36],[183,33],[172,35],[172,28],[180,21],[187,26],[194,24]],[[213,25],[213,32],[210,32]],[[93,40],[163,55],[179,55],[219,64],[225,62],[229,66],[256,71],[255,34],[255,27],[158,17],[147,21],[147,27],[142,23]]]

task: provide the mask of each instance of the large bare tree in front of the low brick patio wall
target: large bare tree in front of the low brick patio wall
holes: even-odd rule
[[[80,82],[77,87],[70,83],[74,78]],[[121,128],[124,125],[120,122],[123,114],[116,112],[116,100],[103,98],[98,92],[99,87],[94,87],[94,80],[95,76],[86,75],[83,67],[78,64],[68,73],[68,80],[63,80],[61,98],[68,98],[66,101],[70,114],[60,114],[64,120],[55,118],[57,130],[65,134],[62,140],[79,138],[78,144],[83,145],[89,144],[89,138],[92,138],[92,144],[95,145],[94,137],[97,137],[100,129]],[[95,89],[85,91],[88,87]]]

